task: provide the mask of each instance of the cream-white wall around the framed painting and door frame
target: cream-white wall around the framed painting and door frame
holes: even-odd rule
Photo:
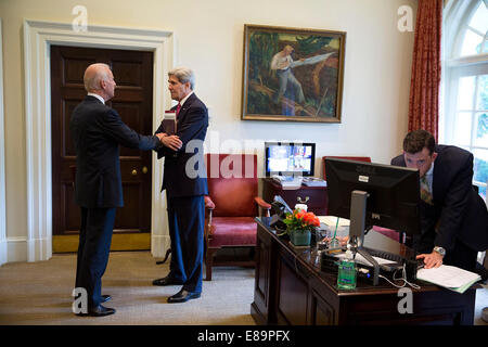
[[[316,142],[316,176],[323,155],[389,163],[400,151],[414,34],[397,29],[397,10],[407,4],[415,12],[415,0],[2,0],[7,239],[12,243],[27,237],[23,21],[72,23],[72,9],[79,4],[88,9],[89,25],[175,33],[177,65],[195,70],[195,91],[210,108],[208,146],[231,139]],[[347,31],[342,124],[241,120],[244,24]],[[16,252],[8,259],[26,257]]]

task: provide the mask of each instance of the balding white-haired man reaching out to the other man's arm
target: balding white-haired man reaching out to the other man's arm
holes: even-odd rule
[[[115,309],[101,305],[111,298],[101,293],[115,209],[124,206],[119,144],[149,151],[162,146],[163,137],[137,133],[105,105],[116,85],[106,64],[90,65],[84,82],[88,94],[73,111],[69,124],[76,150],[75,197],[81,208],[76,287],[85,288],[88,295],[88,312],[76,313],[100,317],[115,313]]]

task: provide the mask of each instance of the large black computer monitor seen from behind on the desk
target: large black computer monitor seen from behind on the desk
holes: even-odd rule
[[[329,215],[350,219],[352,224],[357,221],[354,220],[356,217],[361,217],[355,215],[354,209],[364,200],[364,229],[378,226],[408,234],[420,233],[418,169],[325,158],[325,170]],[[355,191],[358,193],[352,194]],[[359,231],[350,230],[350,232]]]

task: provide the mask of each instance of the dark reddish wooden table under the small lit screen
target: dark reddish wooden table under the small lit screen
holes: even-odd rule
[[[294,208],[296,204],[304,203],[308,206],[308,211],[317,216],[328,215],[328,188],[326,187],[306,187],[299,189],[283,189],[280,183],[272,178],[262,180],[262,198],[271,203],[275,195],[280,195]]]

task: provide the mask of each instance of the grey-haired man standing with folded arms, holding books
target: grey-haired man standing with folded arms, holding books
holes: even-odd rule
[[[184,303],[201,296],[204,253],[204,195],[208,194],[203,142],[208,127],[205,104],[193,93],[194,75],[185,67],[168,73],[171,99],[178,101],[177,136],[183,145],[178,151],[157,150],[165,157],[163,190],[168,203],[171,261],[169,274],[154,285],[182,284],[168,303]],[[168,132],[162,124],[156,133]],[[165,138],[164,138],[165,139]]]

